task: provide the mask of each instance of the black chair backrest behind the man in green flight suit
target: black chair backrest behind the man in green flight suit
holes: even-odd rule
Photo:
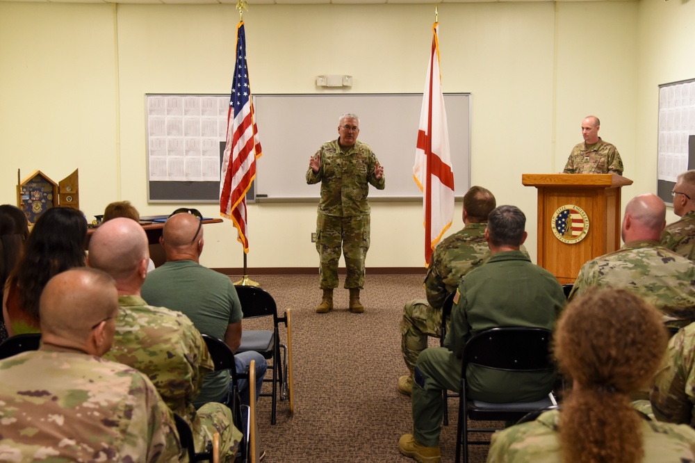
[[[532,327],[500,327],[476,333],[464,347],[464,371],[467,364],[508,371],[554,370],[552,336],[550,330]]]

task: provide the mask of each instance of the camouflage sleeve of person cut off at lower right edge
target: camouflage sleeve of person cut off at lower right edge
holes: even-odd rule
[[[654,377],[649,395],[654,416],[660,421],[693,424],[695,331],[685,328],[669,341],[662,367]]]

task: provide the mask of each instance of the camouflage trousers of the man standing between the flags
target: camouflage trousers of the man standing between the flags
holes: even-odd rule
[[[369,249],[369,216],[334,217],[318,214],[316,250],[318,251],[319,287],[338,287],[338,261],[341,247],[345,257],[345,288],[364,287],[364,259]]]

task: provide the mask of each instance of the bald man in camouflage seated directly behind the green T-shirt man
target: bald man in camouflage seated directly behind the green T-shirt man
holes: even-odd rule
[[[222,461],[234,461],[241,433],[234,428],[231,410],[220,403],[197,411],[193,406],[205,375],[215,369],[205,341],[188,317],[149,306],[140,297],[148,259],[147,235],[134,220],[109,220],[92,235],[88,264],[116,280],[120,306],[106,358],[149,376],[172,412],[188,421],[197,451],[220,432]]]

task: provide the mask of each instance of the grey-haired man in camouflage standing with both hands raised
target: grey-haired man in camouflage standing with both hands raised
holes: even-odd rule
[[[331,140],[309,159],[306,183],[321,182],[316,220],[316,250],[320,257],[319,287],[323,290],[317,314],[333,309],[338,287],[341,245],[345,256],[345,288],[350,290],[350,311],[361,313],[359,290],[364,287],[364,259],[369,249],[369,184],[385,186],[384,168],[366,143],[357,141],[359,118],[352,113],[338,120],[338,139]]]

